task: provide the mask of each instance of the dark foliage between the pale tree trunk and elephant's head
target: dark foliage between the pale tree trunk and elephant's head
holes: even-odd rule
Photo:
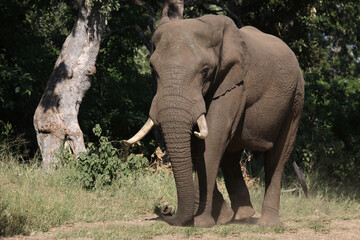
[[[121,140],[135,134],[148,118],[153,97],[150,53],[134,30],[110,34],[135,24],[150,41],[143,8],[122,5],[119,11],[112,12],[98,55],[97,72],[79,112],[86,141],[95,140],[91,129],[96,123],[106,130],[107,136]],[[145,144],[149,146],[149,142],[146,140]]]

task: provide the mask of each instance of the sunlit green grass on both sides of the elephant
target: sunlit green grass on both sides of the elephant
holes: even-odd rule
[[[7,154],[6,156],[4,154]],[[176,206],[174,179],[169,173],[137,172],[123,177],[111,186],[93,191],[82,188],[76,172],[60,167],[53,173],[44,173],[36,160],[19,163],[16,154],[0,154],[0,236],[27,235],[47,232],[53,227],[75,224],[59,231],[55,238],[93,239],[150,239],[156,236],[179,235],[183,238],[202,236],[240,236],[249,233],[276,233],[298,231],[331,231],[329,221],[360,219],[358,193],[339,194],[338,190],[323,183],[310,189],[310,199],[295,193],[281,196],[281,219],[296,226],[262,228],[251,224],[230,224],[211,229],[171,227],[162,221],[141,224],[116,224],[120,220],[141,219],[153,214],[158,202]],[[224,192],[223,180],[218,179]],[[249,189],[252,203],[261,212],[264,188]],[[224,194],[226,196],[226,194]],[[227,198],[227,196],[226,196]],[[107,222],[109,224],[91,224]],[[112,223],[113,222],[113,223]],[[80,224],[79,224],[80,223]],[[251,238],[251,237],[250,237]]]

